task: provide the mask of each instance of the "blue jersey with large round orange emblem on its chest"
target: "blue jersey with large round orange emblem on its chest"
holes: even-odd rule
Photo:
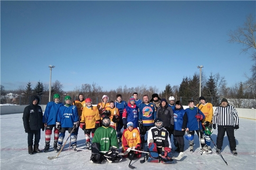
[[[139,106],[139,120],[143,121],[143,126],[154,126],[154,119],[156,114],[155,104],[140,103]]]

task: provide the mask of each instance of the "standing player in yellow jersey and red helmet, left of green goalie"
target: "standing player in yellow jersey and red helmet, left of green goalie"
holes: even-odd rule
[[[91,99],[85,99],[86,107],[82,109],[82,117],[80,121],[80,127],[84,131],[86,139],[86,149],[90,148],[90,134],[93,137],[96,128],[100,127],[101,118],[99,110],[96,106],[92,106]]]

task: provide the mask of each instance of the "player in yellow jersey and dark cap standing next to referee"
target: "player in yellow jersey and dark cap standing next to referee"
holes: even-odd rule
[[[200,109],[205,116],[205,118],[201,120],[203,122],[202,124],[204,124],[205,127],[212,128],[212,118],[213,118],[212,104],[209,102],[206,102],[203,96],[199,97],[199,101],[200,103],[197,104],[196,107],[198,107],[198,109]],[[208,152],[211,153],[212,151],[210,147],[210,142],[211,142],[210,136],[204,133],[204,140],[205,140],[205,144],[207,144],[208,146],[208,150],[209,150]]]

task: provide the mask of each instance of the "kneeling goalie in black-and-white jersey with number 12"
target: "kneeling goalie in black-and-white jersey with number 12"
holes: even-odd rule
[[[150,154],[147,161],[174,163],[169,133],[164,128],[162,119],[156,118],[154,124],[155,127],[151,127],[148,131],[147,144]]]

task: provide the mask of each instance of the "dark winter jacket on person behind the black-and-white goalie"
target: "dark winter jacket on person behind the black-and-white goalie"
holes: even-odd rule
[[[159,108],[156,110],[156,118],[162,119],[165,127],[174,125],[174,112],[168,104],[166,104],[165,107],[162,106],[162,103],[160,104]]]

